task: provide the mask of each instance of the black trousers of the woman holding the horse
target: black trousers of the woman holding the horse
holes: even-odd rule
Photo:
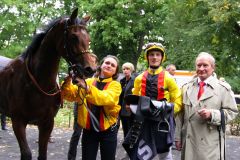
[[[106,131],[96,132],[83,129],[82,135],[82,159],[96,160],[100,145],[101,160],[115,160],[117,149],[118,127],[109,128]]]

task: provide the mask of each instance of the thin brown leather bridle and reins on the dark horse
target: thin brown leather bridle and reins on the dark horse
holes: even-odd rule
[[[68,19],[66,19],[66,20],[64,21],[64,49],[65,49],[65,53],[66,53],[66,56],[65,56],[64,59],[65,59],[66,62],[68,63],[69,68],[70,68],[70,69],[73,69],[73,68],[75,67],[75,64],[73,64],[73,63],[70,61],[70,59],[74,56],[74,54],[71,52],[71,50],[70,50],[70,51],[68,50],[68,47],[69,47],[68,41],[67,41],[68,30],[69,30],[69,28],[75,27],[75,26],[80,26],[80,27],[85,27],[85,26],[84,26],[84,25],[80,25],[80,24],[68,26],[68,23],[67,23],[67,22],[68,22]],[[58,24],[58,22],[56,22],[56,23],[47,31],[47,33],[48,33],[50,30],[52,30],[57,24]],[[47,34],[47,33],[46,33],[46,34]],[[86,54],[86,53],[89,53],[89,50],[83,50],[83,51],[81,51],[81,54]],[[44,90],[40,87],[40,85],[38,84],[38,82],[37,82],[36,79],[34,78],[33,74],[32,74],[32,73],[30,72],[30,70],[29,70],[29,67],[28,67],[28,59],[29,59],[28,57],[25,59],[26,70],[27,70],[28,76],[29,76],[30,79],[32,80],[33,84],[38,88],[38,90],[39,90],[41,93],[43,93],[44,95],[46,95],[46,96],[55,96],[55,95],[59,94],[59,93],[61,92],[61,89],[60,89],[59,85],[57,84],[57,82],[56,82],[56,84],[55,84],[55,87],[54,87],[53,89],[51,89],[50,91],[44,91]],[[83,75],[83,73],[84,73],[84,68],[82,67],[81,64],[78,64],[78,69],[80,69],[81,74]],[[55,90],[56,90],[56,91],[55,91]],[[55,91],[55,92],[51,93],[52,91]]]

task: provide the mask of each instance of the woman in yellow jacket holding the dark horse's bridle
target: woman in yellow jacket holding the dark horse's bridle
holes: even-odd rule
[[[78,124],[83,127],[82,159],[96,160],[100,145],[101,159],[114,160],[117,147],[117,120],[121,85],[116,81],[119,64],[108,55],[100,63],[99,75],[86,79],[67,77],[62,85],[63,98],[77,101]]]

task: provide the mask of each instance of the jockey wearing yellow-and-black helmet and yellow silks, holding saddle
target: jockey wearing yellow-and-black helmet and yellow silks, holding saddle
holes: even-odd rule
[[[133,94],[147,96],[151,100],[157,101],[165,98],[167,102],[174,104],[174,113],[178,113],[182,104],[181,91],[174,78],[161,66],[166,59],[165,48],[161,43],[154,42],[146,44],[144,51],[148,69],[135,78]],[[158,123],[153,123],[151,120],[146,121],[146,123],[152,128],[158,127]],[[159,159],[172,160],[171,146],[162,146],[162,142],[167,141],[167,139],[161,136],[162,134],[159,132],[154,133],[156,147],[164,148],[164,151],[158,151]]]

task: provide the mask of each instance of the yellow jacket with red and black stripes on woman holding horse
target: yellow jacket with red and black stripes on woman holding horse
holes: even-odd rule
[[[121,85],[112,78],[100,80],[99,78],[89,78],[86,80],[89,91],[73,85],[71,82],[63,83],[62,96],[68,101],[76,101],[78,107],[78,124],[85,128],[91,129],[91,118],[86,108],[93,112],[99,120],[100,131],[107,130],[117,123],[119,111],[119,96],[121,94]]]

